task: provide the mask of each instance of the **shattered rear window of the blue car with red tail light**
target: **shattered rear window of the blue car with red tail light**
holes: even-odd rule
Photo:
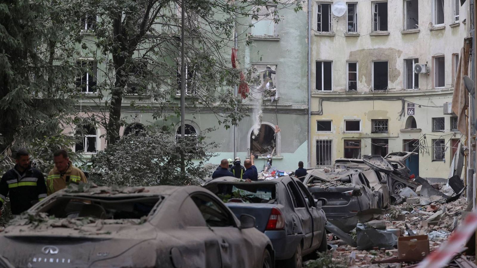
[[[270,203],[277,198],[275,184],[217,184],[209,188],[224,202]],[[239,200],[240,199],[240,200]]]

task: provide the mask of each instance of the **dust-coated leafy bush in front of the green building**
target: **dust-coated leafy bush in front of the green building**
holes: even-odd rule
[[[146,129],[124,136],[92,157],[90,180],[97,185],[153,186],[197,185],[209,174],[204,167],[217,146],[206,143],[202,131],[185,139],[167,130]],[[181,152],[186,163],[186,180],[181,179]],[[194,160],[200,159],[200,162]]]

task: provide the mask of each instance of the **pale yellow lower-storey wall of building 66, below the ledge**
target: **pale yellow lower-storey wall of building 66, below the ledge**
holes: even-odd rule
[[[427,99],[419,96],[409,97],[410,102],[427,105]],[[433,96],[433,103],[442,105],[445,102],[451,102],[452,96],[442,94]],[[373,110],[370,110],[372,107]],[[316,163],[316,141],[332,140],[332,160],[344,157],[344,140],[361,139],[361,155],[371,155],[371,139],[387,138],[389,142],[388,153],[404,150],[403,140],[419,139],[426,135],[427,152],[422,150],[419,154],[419,175],[421,177],[447,178],[451,164],[451,143],[449,139],[458,139],[462,137],[459,132],[450,130],[450,117],[452,115],[442,114],[441,107],[419,107],[415,105],[415,115],[417,128],[420,132],[404,133],[407,115],[399,117],[401,112],[401,101],[350,101],[350,102],[323,102],[323,115],[312,115],[312,141],[311,141],[311,163]],[[432,132],[432,117],[444,117],[445,131]],[[360,119],[360,133],[345,133],[344,120]],[[373,119],[388,119],[388,133],[371,133]],[[319,133],[316,130],[317,120],[332,120],[332,132]],[[446,142],[446,161],[432,160],[432,139],[442,136]]]

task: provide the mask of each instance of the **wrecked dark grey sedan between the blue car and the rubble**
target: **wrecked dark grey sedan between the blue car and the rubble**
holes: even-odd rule
[[[356,227],[359,212],[378,208],[378,193],[360,169],[316,169],[305,177],[305,184],[314,198],[326,199],[326,218],[345,232]]]

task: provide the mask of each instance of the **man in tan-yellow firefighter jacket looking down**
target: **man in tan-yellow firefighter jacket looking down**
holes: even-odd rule
[[[79,184],[80,182],[86,182],[86,176],[83,171],[73,166],[66,150],[54,152],[53,160],[55,167],[48,173],[46,178],[48,195],[66,188],[70,183]]]

